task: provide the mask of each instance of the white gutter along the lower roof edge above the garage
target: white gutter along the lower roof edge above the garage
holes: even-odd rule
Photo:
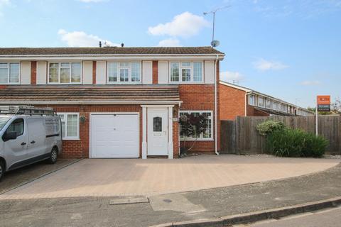
[[[0,105],[112,105],[112,104],[180,104],[183,101],[0,101]]]

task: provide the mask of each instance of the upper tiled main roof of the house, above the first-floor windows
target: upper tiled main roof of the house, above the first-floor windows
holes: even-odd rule
[[[187,48],[0,48],[0,55],[223,55],[211,47]]]

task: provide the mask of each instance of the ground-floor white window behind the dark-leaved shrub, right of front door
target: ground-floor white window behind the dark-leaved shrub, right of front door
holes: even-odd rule
[[[205,133],[200,133],[200,135],[197,135],[195,138],[180,137],[180,140],[213,140],[213,111],[180,111],[179,117],[185,113],[194,114],[195,116],[205,114],[207,116],[207,129]]]

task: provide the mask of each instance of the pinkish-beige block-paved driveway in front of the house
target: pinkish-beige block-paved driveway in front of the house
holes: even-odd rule
[[[327,170],[340,160],[238,155],[182,159],[85,159],[0,195],[0,199],[151,196]]]

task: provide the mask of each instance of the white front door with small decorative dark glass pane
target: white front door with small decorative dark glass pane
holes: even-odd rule
[[[148,155],[168,155],[168,108],[148,108]]]

